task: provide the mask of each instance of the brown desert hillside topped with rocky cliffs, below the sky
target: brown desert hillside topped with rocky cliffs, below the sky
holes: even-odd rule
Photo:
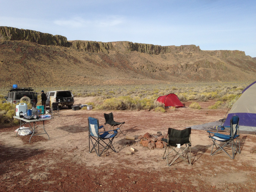
[[[0,86],[255,81],[243,51],[196,45],[67,41],[64,36],[0,27]]]

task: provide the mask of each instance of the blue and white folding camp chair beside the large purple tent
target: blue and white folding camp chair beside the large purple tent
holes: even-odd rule
[[[223,150],[230,158],[234,159],[236,153],[239,153],[239,154],[241,153],[238,122],[239,122],[239,117],[233,116],[230,119],[230,126],[222,127],[222,128],[227,128],[227,127],[230,128],[229,135],[221,134],[218,132],[214,133],[214,132],[207,131],[209,133],[209,138],[211,138],[211,140],[213,141],[211,156],[214,155],[216,152]],[[220,143],[218,144],[216,140],[220,141]],[[238,146],[237,146],[237,141],[238,141]],[[216,151],[212,153],[214,146],[216,147]],[[232,156],[230,156],[227,152],[229,147],[231,147],[232,149]]]

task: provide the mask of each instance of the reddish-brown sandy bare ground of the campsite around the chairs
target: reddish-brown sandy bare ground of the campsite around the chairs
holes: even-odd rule
[[[75,98],[86,104],[94,98]],[[202,102],[201,110],[179,108],[154,111],[60,110],[60,117],[45,121],[47,135],[18,136],[19,126],[0,129],[0,191],[256,191],[256,135],[241,134],[241,154],[210,156],[208,133],[192,130],[192,166],[177,161],[167,166],[164,149],[143,147],[137,138],[145,133],[167,133],[223,118],[227,109],[209,110],[214,101]],[[189,102],[185,103],[186,106]],[[113,112],[125,121],[112,150],[98,157],[89,153],[88,116],[104,124],[103,113]],[[40,123],[42,125],[42,123]],[[42,129],[37,128],[38,133]],[[136,149],[132,155],[130,148]],[[229,150],[230,151],[230,150]]]

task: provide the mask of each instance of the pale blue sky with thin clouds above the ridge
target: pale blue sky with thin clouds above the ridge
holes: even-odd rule
[[[256,0],[0,0],[0,26],[256,57]]]

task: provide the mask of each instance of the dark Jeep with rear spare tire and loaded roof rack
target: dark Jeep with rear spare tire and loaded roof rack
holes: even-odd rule
[[[4,97],[6,101],[13,104],[22,103],[23,101],[28,101],[31,103],[32,107],[36,108],[37,103],[37,93],[31,87],[17,87],[8,90],[7,97]]]

